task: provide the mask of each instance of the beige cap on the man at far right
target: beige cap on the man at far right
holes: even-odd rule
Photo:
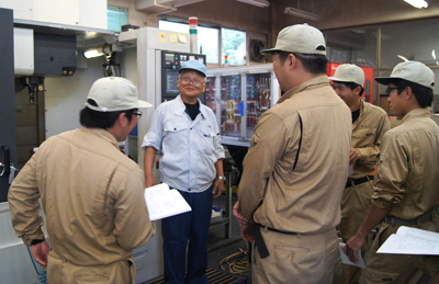
[[[391,77],[378,77],[375,81],[389,84],[392,79],[404,79],[430,89],[435,87],[435,73],[425,64],[418,61],[404,61],[393,68]]]

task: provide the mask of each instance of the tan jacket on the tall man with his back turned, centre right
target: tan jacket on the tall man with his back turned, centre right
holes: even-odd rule
[[[326,76],[283,94],[260,117],[244,160],[241,214],[282,231],[335,229],[348,178],[351,122]]]

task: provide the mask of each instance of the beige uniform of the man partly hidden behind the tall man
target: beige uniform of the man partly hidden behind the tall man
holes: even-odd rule
[[[360,116],[352,124],[351,148],[358,149],[361,158],[353,164],[353,173],[349,175],[347,183],[349,186],[345,189],[341,198],[339,228],[345,243],[356,235],[368,215],[373,194],[372,180],[354,184],[352,179],[368,178],[374,170],[380,154],[381,139],[390,128],[389,117],[383,109],[360,100]],[[361,248],[363,259],[367,246],[368,242],[365,241]],[[340,283],[358,283],[361,271],[358,266],[342,264]]]

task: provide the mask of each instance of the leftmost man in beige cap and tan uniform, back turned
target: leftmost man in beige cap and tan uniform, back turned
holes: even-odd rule
[[[155,234],[136,162],[121,152],[142,115],[136,87],[102,78],[80,112],[81,128],[53,136],[14,179],[9,191],[12,225],[48,283],[133,283],[133,249]],[[50,249],[41,229],[46,215]]]

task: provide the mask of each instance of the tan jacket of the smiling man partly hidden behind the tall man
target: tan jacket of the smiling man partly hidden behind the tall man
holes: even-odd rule
[[[374,170],[381,140],[390,128],[391,124],[384,110],[361,100],[360,116],[352,124],[351,141],[351,148],[358,149],[361,158],[353,164],[350,179],[363,178]]]

